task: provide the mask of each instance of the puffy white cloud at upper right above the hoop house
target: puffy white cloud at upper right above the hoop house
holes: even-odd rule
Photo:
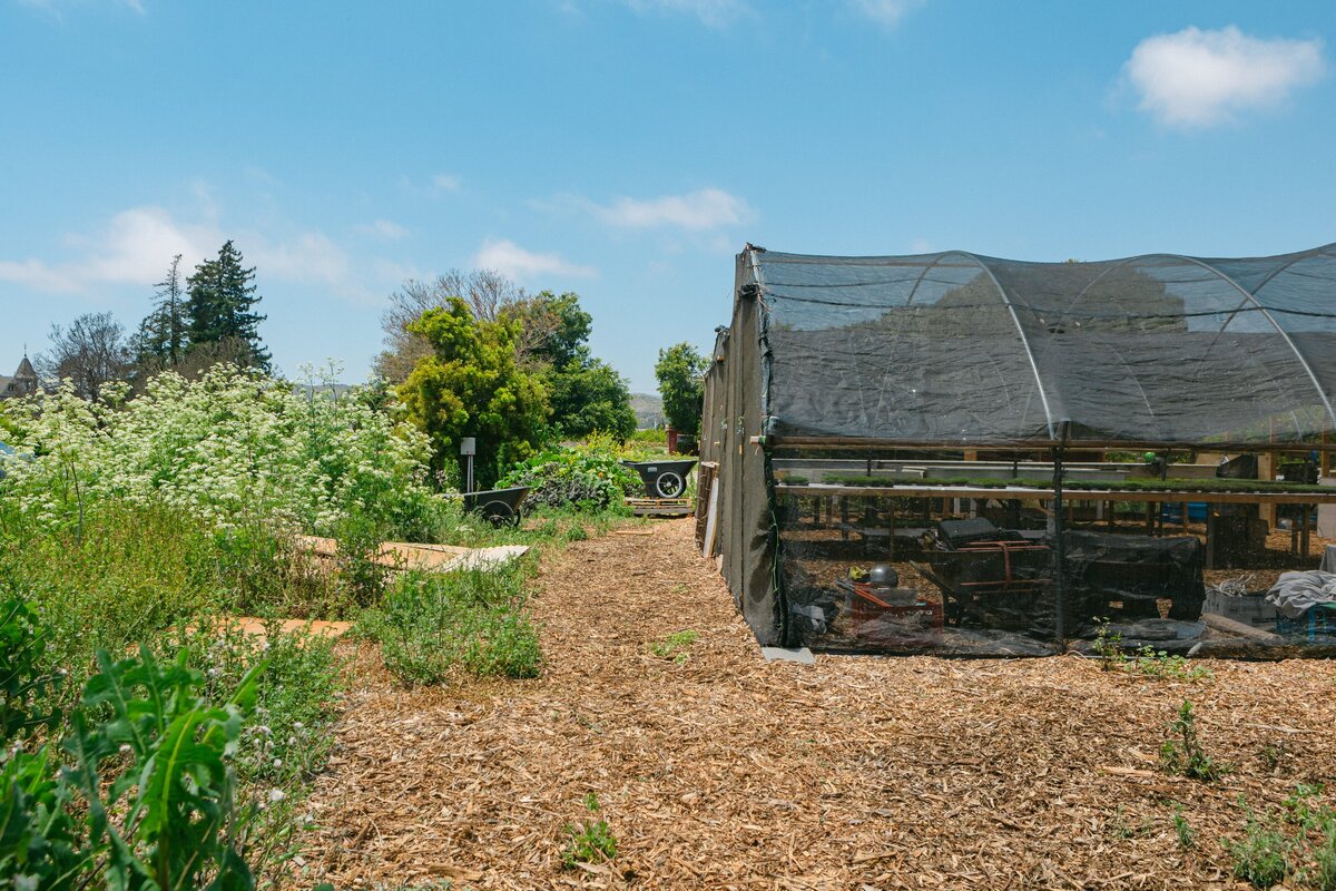
[[[1269,110],[1327,69],[1323,43],[1265,40],[1229,25],[1185,28],[1146,37],[1124,71],[1141,95],[1140,108],[1170,127],[1210,127],[1237,112]]]

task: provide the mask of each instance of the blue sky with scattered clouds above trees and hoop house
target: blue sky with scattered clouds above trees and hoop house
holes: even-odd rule
[[[0,0],[0,373],[234,239],[279,367],[405,278],[727,323],[745,242],[1021,259],[1336,240],[1332,3]]]

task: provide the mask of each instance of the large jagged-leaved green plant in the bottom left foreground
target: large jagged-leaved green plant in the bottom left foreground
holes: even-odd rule
[[[140,647],[99,671],[69,713],[57,771],[51,744],[12,751],[0,771],[0,878],[16,887],[250,888],[253,810],[228,764],[263,663],[223,701],[183,651],[160,664]]]

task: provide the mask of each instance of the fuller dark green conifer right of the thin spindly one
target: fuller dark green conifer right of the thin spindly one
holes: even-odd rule
[[[203,343],[242,341],[248,347],[250,363],[269,370],[271,357],[259,339],[259,323],[267,317],[254,311],[262,299],[255,294],[254,281],[255,267],[242,264],[242,254],[230,240],[216,258],[195,267],[186,279],[191,350]]]

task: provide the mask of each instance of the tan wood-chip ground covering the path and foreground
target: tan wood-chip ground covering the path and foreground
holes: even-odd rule
[[[1336,780],[1336,665],[1196,683],[1077,656],[766,663],[692,521],[573,544],[533,681],[405,689],[358,655],[305,862],[335,887],[1232,888],[1240,796]],[[649,644],[691,629],[685,661]],[[1157,769],[1184,699],[1204,784]],[[612,863],[564,870],[595,792]],[[1328,799],[1329,803],[1329,799]],[[1182,848],[1176,808],[1196,834]],[[430,882],[441,884],[430,886]]]

